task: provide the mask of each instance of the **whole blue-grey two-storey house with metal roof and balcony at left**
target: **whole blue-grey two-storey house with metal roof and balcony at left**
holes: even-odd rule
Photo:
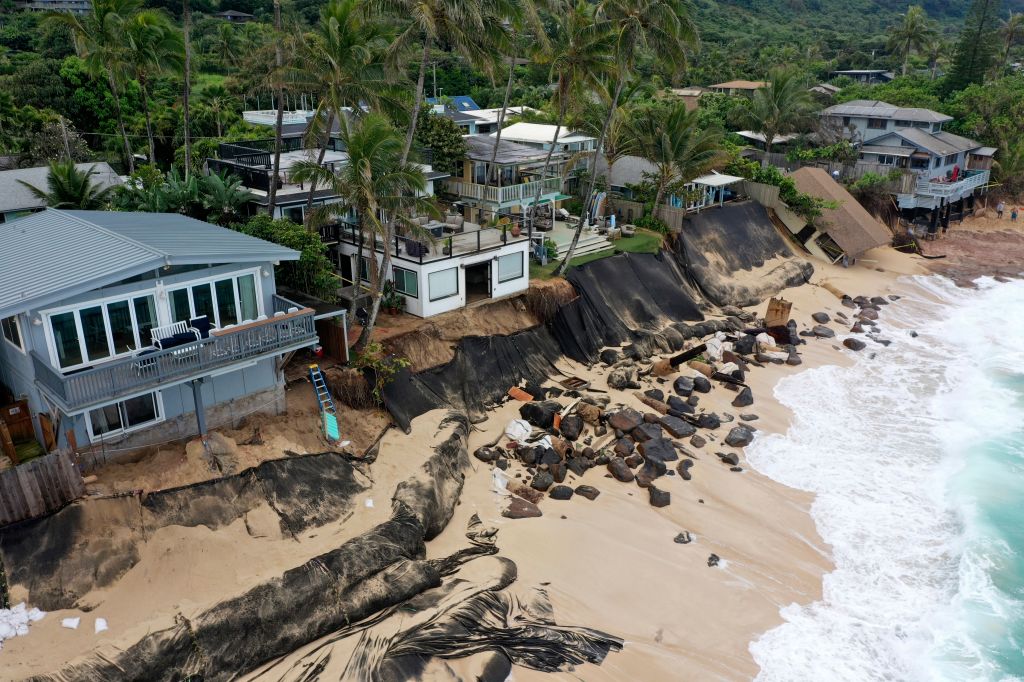
[[[47,451],[279,413],[285,359],[317,343],[274,286],[291,249],[164,213],[47,209],[3,237],[0,382]]]

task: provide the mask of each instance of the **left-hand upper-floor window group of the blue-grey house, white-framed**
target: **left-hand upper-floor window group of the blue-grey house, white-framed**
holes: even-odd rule
[[[67,370],[152,345],[150,330],[157,324],[157,304],[153,295],[145,295],[46,316],[57,365]]]

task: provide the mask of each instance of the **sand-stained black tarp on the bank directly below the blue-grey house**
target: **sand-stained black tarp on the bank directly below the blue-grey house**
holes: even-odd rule
[[[269,504],[282,532],[297,535],[340,518],[365,489],[352,465],[334,453],[272,460],[141,500],[135,495],[87,500],[6,526],[0,529],[0,560],[8,582],[29,589],[34,606],[72,608],[134,566],[140,547],[158,528],[216,529]]]

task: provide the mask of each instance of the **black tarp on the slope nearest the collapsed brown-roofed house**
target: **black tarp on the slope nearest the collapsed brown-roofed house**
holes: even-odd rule
[[[814,266],[794,258],[757,202],[727,204],[687,217],[676,253],[700,293],[715,305],[756,305],[787,287],[806,283]],[[743,281],[742,273],[772,260],[777,265]]]

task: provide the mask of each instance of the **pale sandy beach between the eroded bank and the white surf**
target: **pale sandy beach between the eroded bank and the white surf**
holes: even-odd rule
[[[918,257],[880,250],[848,269],[816,265],[811,283],[781,292],[793,303],[792,317],[801,330],[814,324],[811,313],[825,312],[840,338],[807,338],[799,348],[800,367],[752,368],[746,383],[755,399],[750,407],[732,408],[729,402],[736,394],[721,386],[701,395],[698,410],[715,412],[728,423],[712,432],[702,447],[683,443],[694,461],[692,479],[683,480],[675,471],[658,479],[658,487],[672,496],[668,507],[653,508],[647,491],[615,480],[599,466],[579,477],[569,473],[565,480],[571,486],[594,486],[599,491],[595,500],[579,495],[568,501],[544,498],[538,503],[543,516],[505,518],[502,510],[508,498],[492,489],[492,465],[470,459],[461,502],[446,528],[427,543],[427,558],[464,548],[467,524],[477,515],[485,526],[498,529],[500,557],[517,567],[516,590],[543,588],[557,623],[597,629],[625,640],[623,650],[610,653],[601,666],[588,664],[554,675],[516,667],[514,679],[742,680],[756,676],[750,642],[781,622],[780,607],[820,597],[821,577],[831,565],[829,547],[808,513],[809,494],[762,476],[741,455],[742,470],[732,471],[715,453],[733,450],[721,440],[738,423],[740,413],[757,416],[749,424],[758,433],[785,432],[790,415],[772,393],[781,377],[850,361],[851,351],[842,349],[839,341],[850,326],[843,315],[852,311],[841,304],[837,292],[850,296],[898,293],[897,278],[922,272],[922,263]],[[761,315],[764,305],[750,311]],[[564,359],[556,369],[587,379],[600,391],[608,390],[609,369],[600,364],[587,367]],[[682,371],[694,374],[686,367]],[[673,378],[646,377],[642,385],[668,392]],[[607,396],[608,411],[616,407],[650,411],[633,391],[610,390]],[[518,418],[521,404],[510,400],[488,412],[470,434],[469,452],[496,439],[504,441],[499,436],[509,420]],[[444,438],[445,432],[438,429],[443,416],[443,411],[420,416],[409,434],[396,429],[387,432],[376,462],[356,467],[364,493],[332,523],[289,537],[282,532],[273,511],[261,506],[217,529],[178,525],[157,529],[145,538],[134,566],[111,587],[81,600],[87,607],[49,613],[33,626],[30,636],[5,642],[0,653],[3,677],[20,679],[52,672],[61,663],[91,651],[113,655],[146,632],[170,627],[176,617],[194,617],[211,604],[243,594],[382,522],[390,514],[397,481],[426,461]],[[581,438],[589,435],[585,432]],[[592,442],[596,446],[605,440],[606,436],[594,437]],[[514,459],[511,462],[510,485],[528,481],[525,467]],[[692,542],[674,542],[683,531],[691,535]],[[709,565],[712,554],[720,557],[714,566]],[[458,577],[472,581],[474,576],[486,576],[497,560],[470,561]],[[26,597],[17,586],[12,596],[15,601]],[[80,617],[82,625],[78,630],[61,628],[65,617]],[[106,619],[110,630],[94,634],[95,617]],[[246,679],[293,679],[283,678],[282,671],[300,670],[308,659],[305,654],[322,655],[325,647],[333,655],[324,674],[340,675],[354,645],[354,638],[314,643]],[[429,669],[436,677],[424,679],[472,679],[485,658],[437,662]]]

